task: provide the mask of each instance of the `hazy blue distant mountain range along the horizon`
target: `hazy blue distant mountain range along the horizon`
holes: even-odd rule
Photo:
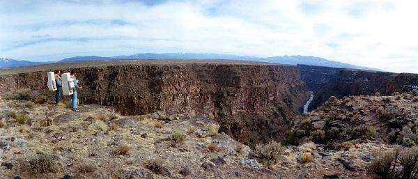
[[[348,63],[341,63],[338,61],[330,61],[315,56],[272,56],[267,58],[261,58],[256,56],[238,56],[231,54],[203,54],[203,53],[164,53],[164,54],[154,54],[154,53],[143,53],[143,54],[133,54],[128,56],[74,56],[67,59],[62,59],[58,62],[72,62],[72,61],[93,61],[93,60],[121,60],[121,59],[228,59],[228,60],[242,60],[242,61],[262,61],[268,63],[282,63],[282,64],[304,64],[304,65],[318,65],[318,66],[327,66],[334,68],[354,68],[362,70],[376,70],[382,71],[377,68],[368,68],[363,66],[351,65]],[[6,62],[3,62],[6,61]],[[42,62],[32,62],[32,61],[17,61],[13,59],[0,59],[0,68],[8,67],[17,67],[24,65],[37,65]]]

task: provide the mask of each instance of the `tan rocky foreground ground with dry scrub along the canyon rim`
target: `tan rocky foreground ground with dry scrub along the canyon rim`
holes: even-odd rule
[[[76,112],[70,111],[65,104],[56,106],[25,100],[0,100],[0,176],[378,178],[368,171],[368,166],[374,159],[373,151],[393,148],[395,143],[378,136],[343,138],[346,140],[328,143],[323,139],[312,138],[311,131],[329,132],[327,127],[336,123],[333,121],[339,121],[341,125],[333,127],[340,127],[339,130],[343,132],[342,127],[345,125],[342,124],[353,125],[350,118],[354,116],[372,118],[382,113],[378,111],[378,106],[386,107],[387,98],[390,98],[389,104],[394,109],[404,111],[408,121],[415,118],[418,100],[415,101],[412,94],[399,96],[401,98],[396,95],[363,96],[347,102],[332,99],[324,108],[300,116],[300,119],[306,120],[320,115],[336,114],[334,111],[350,116],[355,111],[353,116],[344,120],[325,120],[324,116],[319,117],[324,123],[309,120],[308,127],[303,128],[305,132],[300,132],[303,134],[295,134],[295,131],[302,129],[298,128],[301,126],[300,122],[295,122],[291,130],[293,133],[289,134],[294,134],[297,145],[280,148],[276,162],[266,159],[269,154],[261,155],[257,148],[251,149],[223,132],[218,133],[219,125],[215,121],[196,114],[160,112],[121,116],[110,107],[98,105],[81,105],[80,111]],[[357,109],[358,105],[363,104],[362,101],[370,104],[365,103],[361,109]],[[378,112],[373,112],[375,103]],[[391,119],[384,121],[386,120]],[[388,125],[373,124],[377,126],[376,129],[383,129]],[[384,130],[378,131],[383,134]],[[344,143],[345,141],[350,143]],[[339,147],[331,147],[332,145]],[[270,148],[267,151],[273,153],[274,150]]]

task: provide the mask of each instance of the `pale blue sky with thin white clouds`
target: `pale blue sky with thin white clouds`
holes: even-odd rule
[[[306,55],[418,73],[418,1],[0,1],[0,56]]]

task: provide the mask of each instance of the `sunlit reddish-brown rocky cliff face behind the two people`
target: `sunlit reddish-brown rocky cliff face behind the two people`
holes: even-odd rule
[[[217,120],[221,131],[244,143],[284,139],[288,121],[309,98],[295,66],[187,63],[75,68],[83,104],[122,114],[178,111]],[[0,77],[0,92],[47,91],[46,71]]]

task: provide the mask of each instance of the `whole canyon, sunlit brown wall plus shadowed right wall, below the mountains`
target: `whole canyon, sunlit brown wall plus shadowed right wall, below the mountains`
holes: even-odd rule
[[[283,141],[295,116],[307,108],[316,109],[332,95],[390,95],[418,86],[415,74],[249,61],[166,59],[57,64],[0,70],[0,93],[30,88],[52,100],[54,92],[45,85],[46,72],[61,66],[63,72],[77,72],[81,104],[114,107],[123,115],[155,111],[202,115],[216,120],[222,132],[251,147]],[[307,101],[309,107],[304,106]]]

